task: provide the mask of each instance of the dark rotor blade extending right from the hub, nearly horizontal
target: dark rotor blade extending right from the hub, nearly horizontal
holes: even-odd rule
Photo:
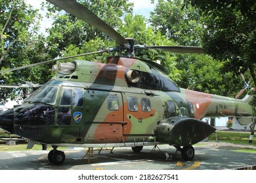
[[[148,49],[164,50],[167,52],[175,53],[191,53],[191,54],[202,54],[203,50],[200,46],[145,46]]]

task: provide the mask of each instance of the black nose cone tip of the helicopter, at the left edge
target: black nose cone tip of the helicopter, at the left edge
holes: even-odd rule
[[[0,127],[9,133],[13,133],[14,112],[13,108],[0,113]]]

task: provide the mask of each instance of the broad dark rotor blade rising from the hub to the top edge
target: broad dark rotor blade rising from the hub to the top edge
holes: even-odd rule
[[[77,3],[75,0],[47,0],[49,3],[56,5],[56,7],[69,12],[70,14],[76,16],[77,18],[87,22],[88,24],[96,27],[100,31],[106,33],[109,37],[112,37],[117,44],[125,45],[128,41],[122,37],[117,31],[115,31],[110,25],[103,22],[98,16],[93,14],[93,12],[89,11],[87,8],[83,7],[83,5]]]

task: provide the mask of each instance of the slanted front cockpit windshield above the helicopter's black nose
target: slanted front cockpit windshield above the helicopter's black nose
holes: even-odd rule
[[[57,92],[58,87],[56,86],[44,86],[32,93],[32,95],[26,99],[26,102],[54,105]]]

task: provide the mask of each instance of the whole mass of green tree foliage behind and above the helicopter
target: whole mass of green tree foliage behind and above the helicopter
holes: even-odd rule
[[[160,60],[169,71],[169,76],[182,88],[234,97],[244,84],[240,76],[233,76],[232,73],[238,70],[244,72],[255,63],[255,22],[249,7],[245,10],[241,3],[234,7],[231,3],[228,8],[216,4],[213,9],[207,9],[210,4],[203,4],[203,1],[158,0],[148,20],[133,14],[133,3],[129,1],[79,0],[79,3],[123,37],[133,37],[139,44],[202,45],[209,55],[157,50],[140,50],[137,53],[138,58]],[[190,6],[191,3],[199,10]],[[115,46],[112,39],[95,27],[50,3],[43,3],[42,7],[47,10],[47,17],[53,20],[46,35],[39,33],[42,17],[38,10],[22,0],[0,0],[1,70]],[[251,8],[253,10],[253,6]],[[104,53],[81,59],[104,61],[107,56]],[[43,84],[53,76],[51,65],[6,73],[0,76],[0,80],[5,84],[17,84],[20,79]],[[1,99],[18,94],[3,88],[0,90]]]

